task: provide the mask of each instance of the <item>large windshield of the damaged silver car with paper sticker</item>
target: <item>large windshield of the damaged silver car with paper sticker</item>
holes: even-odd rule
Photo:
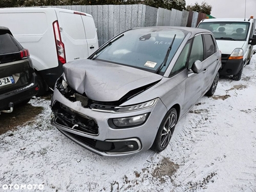
[[[132,29],[118,36],[118,40],[112,40],[113,43],[108,43],[106,48],[95,54],[92,59],[157,72],[176,35],[166,65],[159,70],[163,73],[182,43],[185,33],[187,32],[170,28]]]

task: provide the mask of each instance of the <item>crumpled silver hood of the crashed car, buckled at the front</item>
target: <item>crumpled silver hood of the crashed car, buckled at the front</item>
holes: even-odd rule
[[[92,100],[109,102],[163,78],[159,74],[104,61],[77,60],[63,65],[71,88]]]

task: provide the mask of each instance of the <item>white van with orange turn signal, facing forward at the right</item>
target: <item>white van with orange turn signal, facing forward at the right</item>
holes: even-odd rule
[[[212,31],[221,51],[222,67],[220,75],[230,76],[239,81],[243,67],[250,63],[255,54],[256,36],[253,35],[255,23],[250,19],[204,19],[197,28]]]

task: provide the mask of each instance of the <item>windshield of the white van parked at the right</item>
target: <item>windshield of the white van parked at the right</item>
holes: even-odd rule
[[[216,40],[246,40],[249,22],[202,22],[198,28],[212,31]]]

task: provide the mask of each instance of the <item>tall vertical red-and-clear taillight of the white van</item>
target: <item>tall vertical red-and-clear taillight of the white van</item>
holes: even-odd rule
[[[53,26],[53,31],[54,31],[58,60],[62,64],[64,64],[64,63],[66,63],[65,47],[64,47],[63,42],[61,42],[60,28],[59,28],[58,21],[56,20],[55,22],[53,22],[52,26]]]

